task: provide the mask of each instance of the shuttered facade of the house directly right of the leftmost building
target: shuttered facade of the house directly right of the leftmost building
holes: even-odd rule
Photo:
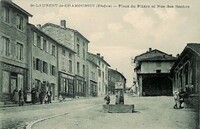
[[[58,97],[58,43],[28,24],[28,86],[38,93],[52,91],[53,100]]]

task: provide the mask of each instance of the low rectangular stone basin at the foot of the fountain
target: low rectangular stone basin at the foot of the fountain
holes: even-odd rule
[[[133,113],[134,105],[109,104],[109,105],[103,105],[103,110],[104,112],[108,113]]]

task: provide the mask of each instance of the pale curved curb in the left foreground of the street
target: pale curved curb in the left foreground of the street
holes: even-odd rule
[[[65,112],[65,113],[62,113],[62,114],[58,114],[58,115],[54,115],[54,116],[50,116],[50,117],[46,117],[46,118],[41,118],[41,119],[39,119],[39,120],[30,122],[30,123],[26,123],[25,128],[26,128],[26,129],[31,129],[32,126],[33,126],[34,124],[36,124],[36,123],[39,123],[39,122],[42,122],[42,121],[45,121],[45,120],[48,120],[48,119],[52,119],[52,118],[54,118],[54,117],[58,117],[58,116],[62,116],[62,115],[67,115],[67,114],[69,114],[69,113],[68,113],[68,112]]]

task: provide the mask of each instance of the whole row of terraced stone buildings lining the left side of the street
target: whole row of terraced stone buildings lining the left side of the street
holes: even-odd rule
[[[12,1],[1,0],[0,7],[1,101],[12,100],[16,88],[51,90],[53,99],[114,93],[109,73],[116,70],[100,53],[88,52],[90,41],[65,20],[35,26],[29,23],[32,15]]]

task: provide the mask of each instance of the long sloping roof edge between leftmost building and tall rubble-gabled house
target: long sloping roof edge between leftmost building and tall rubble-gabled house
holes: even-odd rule
[[[71,52],[73,52],[73,53],[76,53],[74,50],[72,50],[72,49],[66,47],[65,45],[62,45],[61,43],[59,43],[58,41],[56,41],[55,39],[53,39],[51,36],[49,36],[48,34],[46,34],[46,33],[45,33],[44,31],[42,31],[41,29],[38,29],[35,25],[30,24],[30,23],[28,23],[28,25],[30,25],[30,27],[31,27],[33,30],[36,30],[36,31],[38,31],[38,32],[40,32],[40,33],[42,33],[42,34],[44,34],[45,36],[47,36],[48,38],[50,38],[51,40],[53,40],[54,42],[56,42],[56,43],[59,44],[60,46],[65,47],[66,49],[68,49],[69,51],[71,51]]]

